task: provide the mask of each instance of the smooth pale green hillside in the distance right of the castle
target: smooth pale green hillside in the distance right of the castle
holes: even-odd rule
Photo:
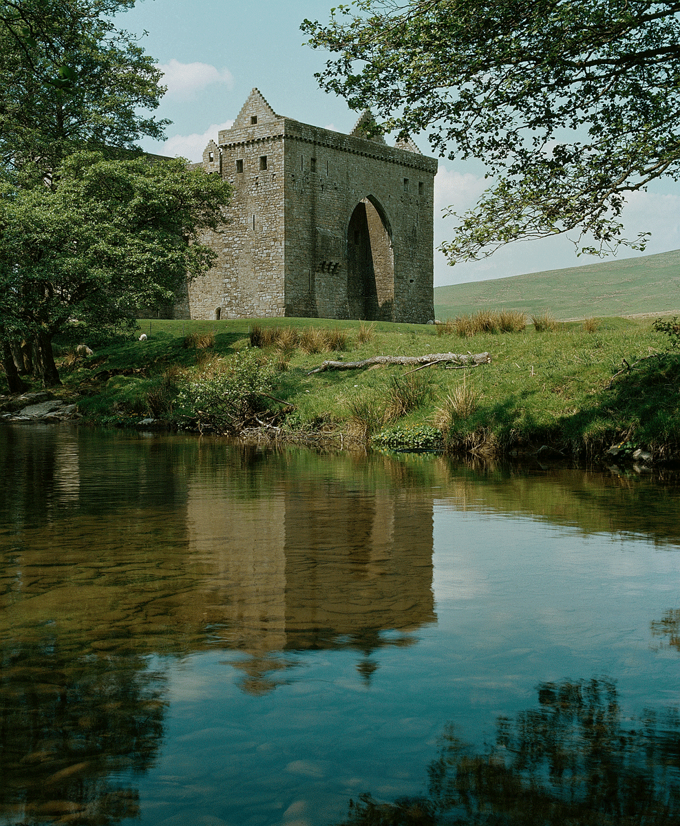
[[[557,319],[680,311],[680,249],[512,278],[435,287],[440,320],[478,310],[548,309]]]

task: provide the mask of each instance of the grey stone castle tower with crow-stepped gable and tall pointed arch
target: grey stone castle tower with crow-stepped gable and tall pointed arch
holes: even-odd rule
[[[176,317],[434,318],[437,161],[367,137],[370,119],[342,135],[278,116],[253,89],[199,164],[234,197],[206,237],[216,264]]]

